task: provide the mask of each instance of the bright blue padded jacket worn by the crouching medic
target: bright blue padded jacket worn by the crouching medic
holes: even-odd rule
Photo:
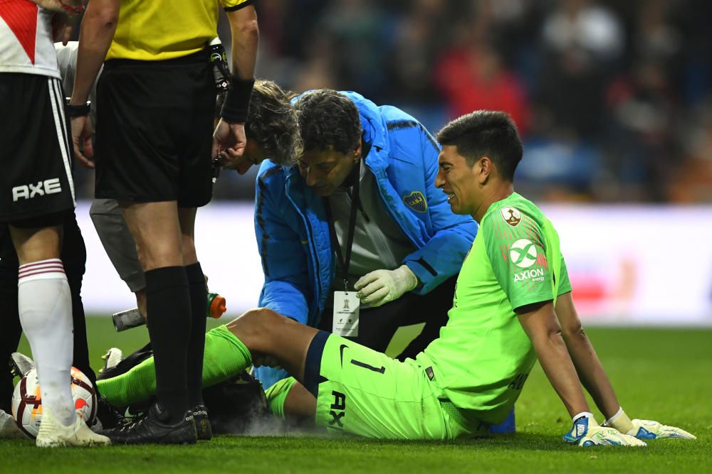
[[[371,144],[365,165],[384,207],[417,248],[402,262],[422,283],[414,291],[428,293],[460,271],[477,224],[453,214],[435,187],[440,146],[416,119],[355,92],[342,93],[359,110],[363,139]],[[255,232],[265,276],[259,304],[318,325],[335,273],[322,198],[297,166],[271,161],[263,161],[256,188]]]

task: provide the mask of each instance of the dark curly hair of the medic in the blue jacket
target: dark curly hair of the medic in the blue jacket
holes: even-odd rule
[[[329,146],[340,153],[356,148],[361,139],[358,109],[343,94],[330,89],[307,92],[294,104],[305,150],[325,150]]]

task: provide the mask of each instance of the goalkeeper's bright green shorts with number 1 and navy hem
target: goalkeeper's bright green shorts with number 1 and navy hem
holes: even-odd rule
[[[311,347],[305,387],[310,389],[308,381],[314,381],[316,423],[331,433],[385,439],[486,435],[486,424],[466,421],[451,402],[441,399],[441,389],[416,361],[399,362],[340,336],[327,338],[325,333],[315,338],[315,345],[323,345],[320,365],[310,364],[310,356],[315,359],[319,350]]]

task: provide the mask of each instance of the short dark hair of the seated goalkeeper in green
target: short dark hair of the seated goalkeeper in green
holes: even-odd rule
[[[457,152],[473,166],[482,156],[490,158],[499,175],[514,180],[514,171],[522,159],[522,140],[509,114],[476,110],[446,124],[437,134],[441,145],[454,145]]]

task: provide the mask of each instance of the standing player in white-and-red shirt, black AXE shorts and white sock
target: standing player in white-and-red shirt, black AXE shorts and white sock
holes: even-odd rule
[[[0,220],[9,224],[19,259],[20,321],[41,384],[37,446],[109,443],[77,416],[70,391],[71,293],[60,247],[75,197],[53,45],[53,31],[63,34],[66,26],[63,15],[29,0],[0,2],[0,103],[7,111],[0,124]]]

